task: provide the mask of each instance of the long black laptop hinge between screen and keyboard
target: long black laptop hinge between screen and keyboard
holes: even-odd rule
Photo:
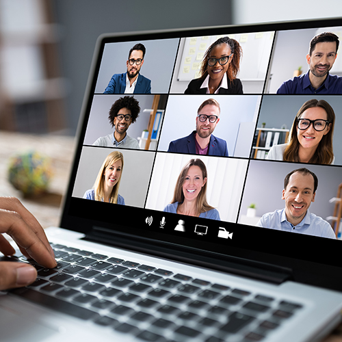
[[[115,239],[113,239],[115,235]],[[196,248],[185,248],[170,243],[156,243],[152,239],[137,239],[124,233],[113,233],[106,228],[94,227],[86,237],[87,241],[100,242],[107,246],[124,248],[133,252],[148,254],[153,257],[178,261],[190,265],[215,269],[216,271],[236,274],[246,278],[253,278],[281,284],[292,277],[291,269],[276,265],[250,261],[239,257],[226,256],[224,254],[207,252]],[[174,250],[177,253],[174,253]]]

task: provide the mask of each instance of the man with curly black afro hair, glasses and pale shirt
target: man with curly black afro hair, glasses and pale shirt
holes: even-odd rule
[[[120,97],[114,102],[109,110],[109,122],[115,127],[114,133],[105,137],[99,137],[94,146],[140,148],[139,143],[133,137],[127,135],[126,131],[130,124],[134,123],[139,116],[140,105],[133,96]]]

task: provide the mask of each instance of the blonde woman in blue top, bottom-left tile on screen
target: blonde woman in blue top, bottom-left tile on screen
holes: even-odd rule
[[[94,188],[87,190],[83,198],[124,205],[124,198],[119,195],[123,166],[124,156],[121,152],[109,153],[98,172]]]

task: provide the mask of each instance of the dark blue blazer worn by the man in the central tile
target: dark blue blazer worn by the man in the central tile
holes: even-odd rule
[[[196,131],[193,131],[187,137],[181,137],[181,139],[170,142],[168,152],[191,153],[192,155],[196,155],[195,133]],[[208,155],[228,157],[226,140],[211,134]]]

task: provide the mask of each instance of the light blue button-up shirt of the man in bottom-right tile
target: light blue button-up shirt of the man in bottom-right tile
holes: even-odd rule
[[[263,215],[263,217],[257,223],[257,226],[277,229],[278,231],[287,231],[336,239],[330,224],[328,224],[328,222],[319,216],[310,213],[310,211],[306,211],[306,215],[304,216],[303,220],[297,224],[297,226],[293,226],[293,224],[287,221],[285,209],[276,210],[273,213],[265,213],[265,215]]]

